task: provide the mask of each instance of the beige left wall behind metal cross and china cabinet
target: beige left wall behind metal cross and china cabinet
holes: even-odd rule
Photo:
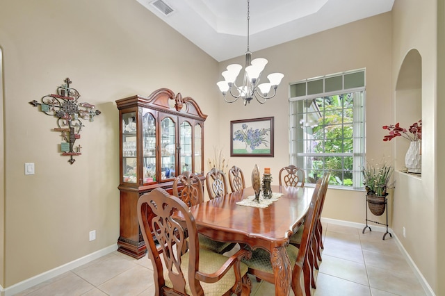
[[[132,0],[2,0],[0,47],[6,151],[0,284],[7,288],[117,242],[116,99],[158,88],[193,97],[209,115],[205,149],[218,142],[212,132],[218,63]],[[79,101],[102,111],[85,122],[82,155],[73,165],[58,151],[56,119],[28,104],[54,93],[66,77]],[[35,175],[24,175],[26,162],[35,163]],[[93,229],[97,239],[89,242]]]

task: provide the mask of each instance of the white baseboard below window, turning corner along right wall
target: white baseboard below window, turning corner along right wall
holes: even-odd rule
[[[323,218],[323,217],[321,217],[321,222],[327,223],[327,224],[337,224],[337,225],[341,225],[341,226],[354,227],[354,228],[358,228],[358,229],[364,229],[364,227],[366,226],[366,224],[364,224],[364,223],[348,222],[348,221],[335,220],[335,219]],[[375,224],[372,224],[370,226],[372,227],[373,231],[374,230],[379,231],[379,232],[387,231],[386,227],[378,226]],[[388,231],[391,233],[392,237],[394,238],[394,240],[396,242],[398,249],[401,250],[402,255],[405,257],[407,263],[410,265],[410,267],[411,267],[412,271],[414,272],[414,274],[416,275],[417,279],[419,279],[419,282],[421,283],[423,290],[425,290],[426,295],[435,296],[435,293],[432,290],[432,288],[430,287],[430,285],[428,284],[428,281],[426,281],[425,277],[423,277],[423,274],[420,272],[419,268],[417,268],[417,265],[412,260],[410,254],[408,254],[408,252],[406,252],[405,247],[403,247],[401,241],[398,240],[398,237],[396,236],[394,231],[391,228],[389,228]]]

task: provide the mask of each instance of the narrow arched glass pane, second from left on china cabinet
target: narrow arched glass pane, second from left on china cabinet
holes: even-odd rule
[[[143,136],[143,183],[156,182],[156,120],[147,108],[140,108]]]

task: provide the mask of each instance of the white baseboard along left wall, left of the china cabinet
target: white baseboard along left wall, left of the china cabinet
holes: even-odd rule
[[[86,264],[88,262],[96,260],[97,258],[105,256],[106,254],[110,254],[111,252],[114,252],[117,249],[118,249],[118,245],[114,244],[109,247],[105,247],[104,249],[99,249],[99,251],[97,251],[97,252],[88,254],[86,256],[83,256],[79,259],[76,259],[76,260],[66,263],[64,265],[60,265],[57,268],[54,268],[52,270],[48,270],[47,272],[43,272],[42,274],[38,274],[35,277],[25,279],[24,281],[16,283],[15,285],[10,286],[8,288],[3,289],[0,286],[0,288],[1,288],[0,295],[1,296],[15,295],[15,294],[20,293],[28,288],[38,285],[39,283],[43,283],[44,281],[52,279],[53,277],[57,277],[60,274],[63,274],[70,270],[73,270],[74,268],[78,268],[79,266],[81,266],[83,264]]]

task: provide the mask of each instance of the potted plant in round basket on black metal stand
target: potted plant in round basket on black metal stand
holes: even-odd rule
[[[366,165],[362,168],[363,185],[366,189],[366,201],[371,213],[380,216],[385,212],[387,190],[392,188],[391,175],[394,167],[386,163]]]

